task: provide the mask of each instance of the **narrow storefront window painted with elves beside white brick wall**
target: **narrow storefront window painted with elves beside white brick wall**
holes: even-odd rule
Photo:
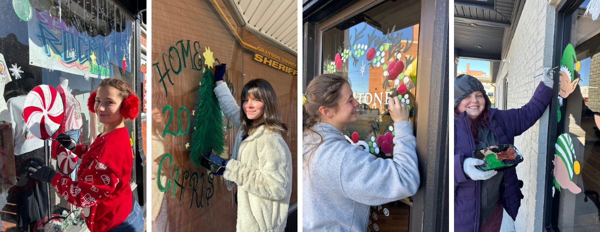
[[[553,221],[560,231],[600,229],[600,20],[584,2],[566,16],[570,43],[560,59]],[[594,17],[595,15],[595,17]],[[567,36],[568,38],[568,36]]]

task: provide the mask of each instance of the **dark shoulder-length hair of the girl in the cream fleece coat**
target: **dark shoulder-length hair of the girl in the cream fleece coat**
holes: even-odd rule
[[[265,126],[274,132],[280,133],[281,136],[286,136],[287,127],[281,122],[281,115],[277,105],[277,94],[271,84],[265,79],[253,79],[248,81],[242,89],[242,102],[248,97],[253,96],[255,99],[263,103],[265,113],[260,117],[257,123],[248,119],[244,111],[244,104],[240,104],[240,118],[242,120],[242,130],[244,134],[242,138],[247,138],[248,135],[254,132],[259,126]]]

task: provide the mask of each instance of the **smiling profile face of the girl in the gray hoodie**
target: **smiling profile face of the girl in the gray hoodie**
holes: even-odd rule
[[[337,109],[333,112],[332,121],[342,127],[358,120],[356,109],[360,105],[356,99],[349,84],[343,84],[340,90],[340,99],[338,100]]]

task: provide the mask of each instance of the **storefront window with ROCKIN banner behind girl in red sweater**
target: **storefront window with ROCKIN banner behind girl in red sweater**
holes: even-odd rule
[[[44,84],[64,92],[64,132],[81,144],[91,144],[102,125],[87,108],[89,94],[104,78],[121,78],[130,86],[136,35],[132,17],[112,1],[15,0],[0,8],[0,121],[2,187],[0,209],[7,230],[29,230],[34,223],[63,210],[68,202],[46,184],[29,178],[26,163],[37,157],[57,172],[72,169],[57,164],[58,146],[45,151],[44,141],[26,129],[22,112],[26,94]],[[134,122],[125,121],[134,140]],[[11,128],[11,129],[8,129]],[[13,152],[7,146],[14,144]],[[132,148],[133,149],[133,148]],[[65,173],[65,174],[67,174]],[[136,181],[132,170],[131,182]],[[76,172],[70,172],[76,178]],[[29,228],[29,229],[28,229]]]

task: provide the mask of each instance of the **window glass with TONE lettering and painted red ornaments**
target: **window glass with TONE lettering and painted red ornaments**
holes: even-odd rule
[[[358,121],[343,133],[377,157],[392,158],[387,99],[400,97],[414,122],[420,6],[420,1],[386,1],[323,32],[322,73],[347,75],[361,104]],[[404,199],[371,207],[370,230],[407,229],[410,206],[412,200]]]

